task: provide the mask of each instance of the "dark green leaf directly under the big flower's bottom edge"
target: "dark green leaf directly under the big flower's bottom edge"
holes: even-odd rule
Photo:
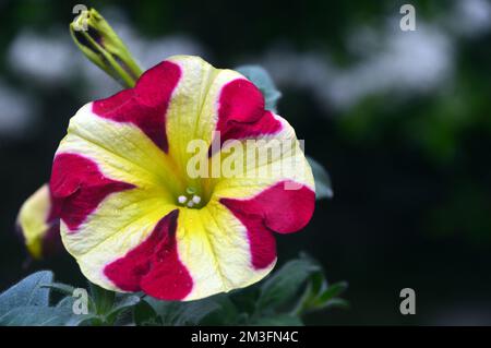
[[[148,296],[144,300],[157,313],[161,324],[169,326],[197,325],[219,309],[213,297],[190,302],[160,301]]]

